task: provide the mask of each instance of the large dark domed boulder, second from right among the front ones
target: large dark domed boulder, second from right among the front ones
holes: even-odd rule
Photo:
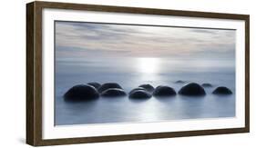
[[[205,95],[204,89],[200,86],[200,84],[191,83],[183,86],[179,90],[179,94],[182,95]]]

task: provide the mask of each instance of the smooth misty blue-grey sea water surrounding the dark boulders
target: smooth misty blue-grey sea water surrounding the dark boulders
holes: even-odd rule
[[[109,58],[57,60],[55,64],[55,124],[141,123],[235,116],[235,68],[229,61],[168,58]],[[178,80],[213,86],[200,97],[176,96],[135,100],[128,96],[100,97],[90,102],[66,102],[63,95],[76,84],[118,83],[127,92],[139,84],[169,85]],[[211,94],[227,86],[230,95]]]

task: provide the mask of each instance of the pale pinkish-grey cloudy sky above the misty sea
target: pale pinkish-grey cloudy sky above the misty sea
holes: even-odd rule
[[[235,60],[235,30],[56,21],[56,59]]]

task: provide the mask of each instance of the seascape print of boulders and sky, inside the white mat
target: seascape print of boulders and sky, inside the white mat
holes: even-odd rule
[[[236,30],[55,21],[55,124],[236,116]]]

